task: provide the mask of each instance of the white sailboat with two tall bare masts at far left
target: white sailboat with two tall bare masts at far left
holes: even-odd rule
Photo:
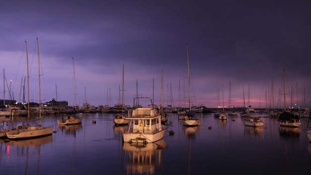
[[[29,115],[30,115],[30,108],[29,108],[29,72],[28,72],[28,51],[27,51],[27,42],[26,44],[26,56],[27,56],[27,81],[28,81],[28,123],[29,123]],[[31,126],[31,125],[23,125],[23,126],[16,126],[15,130],[6,132],[6,136],[9,139],[28,139],[34,137],[41,137],[46,135],[52,135],[53,126],[42,126],[41,125],[41,85],[40,85],[40,56],[39,56],[39,40],[37,38],[37,46],[38,46],[38,69],[39,69],[39,120],[40,125],[38,126]]]

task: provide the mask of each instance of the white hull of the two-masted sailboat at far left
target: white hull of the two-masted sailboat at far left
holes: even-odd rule
[[[53,126],[29,126],[21,129],[16,129],[10,132],[6,132],[6,136],[9,139],[27,139],[33,137],[41,137],[45,135],[51,135],[53,132]]]

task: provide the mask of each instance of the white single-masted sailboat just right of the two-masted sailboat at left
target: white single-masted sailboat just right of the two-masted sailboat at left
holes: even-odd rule
[[[57,123],[60,125],[73,125],[82,123],[82,117],[79,117],[77,114],[77,100],[76,100],[76,77],[75,77],[75,59],[73,57],[73,67],[74,67],[74,89],[75,89],[75,112],[76,114],[67,115],[66,117],[62,117],[57,119]]]

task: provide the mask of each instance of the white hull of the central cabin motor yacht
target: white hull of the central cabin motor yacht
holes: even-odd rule
[[[161,130],[154,133],[141,133],[141,132],[129,132],[123,133],[123,142],[156,142],[163,138],[164,133],[168,127],[162,128]]]

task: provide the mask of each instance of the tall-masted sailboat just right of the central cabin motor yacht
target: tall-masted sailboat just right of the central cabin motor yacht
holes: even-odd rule
[[[191,111],[191,97],[190,97],[190,70],[189,70],[189,51],[187,44],[187,68],[188,68],[188,95],[189,95],[189,111],[186,111],[182,124],[184,126],[200,126],[199,119],[195,118],[195,112]]]

